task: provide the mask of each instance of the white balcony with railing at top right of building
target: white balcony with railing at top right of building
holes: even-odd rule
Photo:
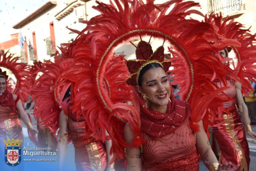
[[[208,0],[208,12],[232,15],[245,9],[244,0]]]

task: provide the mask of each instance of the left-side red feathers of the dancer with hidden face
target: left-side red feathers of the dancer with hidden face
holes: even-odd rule
[[[71,64],[71,59],[55,57],[55,63],[44,61],[44,67],[39,71],[43,73],[31,89],[34,100],[37,100],[34,112],[35,118],[41,120],[40,125],[51,128],[53,134],[59,128],[59,113],[62,110],[62,98],[70,82],[62,79],[62,72]]]

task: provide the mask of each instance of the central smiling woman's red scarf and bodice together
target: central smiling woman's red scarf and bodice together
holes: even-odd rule
[[[168,104],[167,113],[172,114],[150,110],[153,112],[150,116],[142,112],[142,159],[145,171],[199,171],[195,135],[189,125],[190,107],[182,106],[180,102],[176,101],[173,113]],[[162,128],[158,129],[158,125]],[[168,126],[170,128],[165,130]]]

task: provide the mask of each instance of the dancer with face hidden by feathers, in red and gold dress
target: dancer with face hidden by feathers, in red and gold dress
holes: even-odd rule
[[[59,116],[59,170],[64,169],[67,144],[72,141],[77,171],[104,171],[107,168],[105,144],[94,137],[84,136],[86,131],[85,119],[77,117],[77,113],[72,112],[70,102],[67,105],[66,112],[62,110]]]

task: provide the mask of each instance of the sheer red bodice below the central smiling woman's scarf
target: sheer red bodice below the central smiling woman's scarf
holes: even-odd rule
[[[149,169],[151,171],[151,168],[158,168],[158,165],[162,166],[163,170],[161,171],[184,167],[190,168],[196,165],[195,138],[188,122],[177,128],[175,132],[160,138],[152,138],[145,134],[145,132],[142,133],[145,139],[145,144],[143,144],[142,148],[142,158],[146,170]],[[192,154],[194,155],[193,158],[188,157]],[[165,166],[168,167],[164,169]]]

